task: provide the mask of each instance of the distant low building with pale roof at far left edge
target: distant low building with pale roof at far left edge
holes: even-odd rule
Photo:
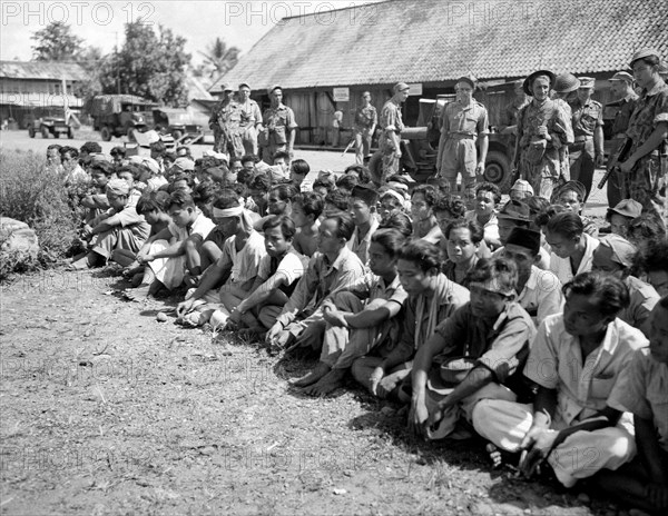
[[[0,118],[12,118],[22,129],[24,113],[35,107],[81,108],[75,86],[87,76],[72,62],[0,61]]]

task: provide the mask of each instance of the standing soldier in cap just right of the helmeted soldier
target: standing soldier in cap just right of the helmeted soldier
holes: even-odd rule
[[[591,191],[593,170],[603,165],[603,107],[591,98],[593,77],[580,77],[578,100],[571,105],[574,141],[569,146],[570,176]]]

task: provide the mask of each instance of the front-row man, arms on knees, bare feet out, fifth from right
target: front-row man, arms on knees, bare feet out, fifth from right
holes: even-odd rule
[[[396,229],[375,231],[369,248],[371,272],[323,302],[327,326],[320,363],[295,384],[311,386],[307,394],[331,393],[342,384],[356,358],[376,346],[396,344],[401,327],[396,316],[409,297],[396,271],[396,256],[404,240]]]

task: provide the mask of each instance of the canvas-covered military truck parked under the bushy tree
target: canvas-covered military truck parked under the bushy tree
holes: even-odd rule
[[[127,136],[134,142],[134,131],[146,132],[154,126],[153,109],[157,105],[134,95],[99,95],[92,98],[92,127],[102,140]]]

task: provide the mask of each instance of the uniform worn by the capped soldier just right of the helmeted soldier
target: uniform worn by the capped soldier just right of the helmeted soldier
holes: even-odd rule
[[[603,126],[603,107],[596,100],[581,105],[578,100],[571,106],[574,141],[569,146],[571,180],[580,181],[587,189],[584,199],[591,191],[596,168],[593,132]]]

